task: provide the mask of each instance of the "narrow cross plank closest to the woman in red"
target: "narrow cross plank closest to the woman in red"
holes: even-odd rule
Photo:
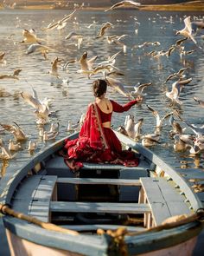
[[[126,180],[126,179],[58,178],[57,183],[141,186],[141,183],[139,180]]]

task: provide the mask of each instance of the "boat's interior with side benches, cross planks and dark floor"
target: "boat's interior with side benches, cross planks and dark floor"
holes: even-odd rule
[[[156,165],[136,156],[137,167],[83,163],[73,173],[63,157],[50,154],[16,187],[12,208],[87,234],[120,226],[139,232],[176,214],[191,213],[175,184],[153,177]]]

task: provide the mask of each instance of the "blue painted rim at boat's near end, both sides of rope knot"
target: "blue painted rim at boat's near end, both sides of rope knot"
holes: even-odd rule
[[[17,237],[35,242],[41,246],[49,246],[72,253],[81,253],[88,256],[109,255],[109,246],[112,245],[111,237],[107,234],[90,236],[83,233],[79,234],[76,239],[75,235],[50,232],[34,224],[25,223],[23,220],[14,220],[10,216],[3,217],[3,223]],[[163,229],[159,232],[151,231],[138,233],[136,236],[125,236],[124,241],[130,255],[150,253],[193,239],[201,232],[201,229],[201,222],[194,221],[171,229]],[[90,252],[93,254],[90,254]],[[110,253],[110,255],[112,254]]]

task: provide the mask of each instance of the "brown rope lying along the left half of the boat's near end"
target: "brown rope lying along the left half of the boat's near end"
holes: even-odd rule
[[[71,235],[78,235],[79,233],[67,228],[63,228],[61,226],[56,226],[52,223],[49,222],[43,222],[41,220],[36,219],[35,217],[30,217],[29,215],[23,214],[16,212],[10,208],[9,205],[2,205],[0,204],[0,212],[3,213],[4,215],[10,215],[13,216],[19,220],[26,220],[29,221],[30,223],[33,223],[37,226],[41,226],[44,229],[50,230],[50,231],[56,231],[56,232],[61,232],[61,233],[68,233]]]

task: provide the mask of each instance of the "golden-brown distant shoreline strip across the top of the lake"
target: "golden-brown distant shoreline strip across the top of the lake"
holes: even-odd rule
[[[84,6],[80,10],[106,10],[110,8],[109,6],[103,7],[92,7]],[[39,5],[17,5],[15,8],[0,6],[0,10],[73,10],[73,8],[68,7],[55,7],[53,4],[39,4]],[[118,8],[115,10],[124,9]],[[127,8],[125,8],[127,10]],[[135,10],[166,10],[166,11],[204,11],[203,1],[194,1],[187,3],[171,3],[171,4],[141,4],[137,8],[130,7],[128,9]],[[114,11],[115,11],[114,10]]]

